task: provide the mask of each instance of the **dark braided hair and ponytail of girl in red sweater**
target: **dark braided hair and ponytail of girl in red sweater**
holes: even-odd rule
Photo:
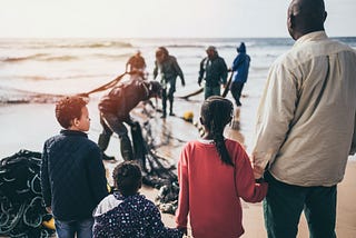
[[[234,105],[220,96],[211,96],[201,106],[200,116],[212,136],[214,142],[226,165],[234,166],[224,141],[224,129],[233,119]]]

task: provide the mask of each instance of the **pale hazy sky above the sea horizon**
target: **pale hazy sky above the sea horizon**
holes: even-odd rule
[[[0,0],[0,38],[289,37],[289,0]],[[356,1],[325,0],[329,37],[356,37]]]

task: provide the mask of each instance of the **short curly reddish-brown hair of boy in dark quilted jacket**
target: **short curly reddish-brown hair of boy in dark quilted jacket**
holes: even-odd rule
[[[87,101],[78,96],[66,97],[56,103],[56,118],[60,126],[68,129],[71,121],[81,117],[81,109],[87,105]]]

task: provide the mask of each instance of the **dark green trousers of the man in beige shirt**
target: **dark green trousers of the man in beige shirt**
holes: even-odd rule
[[[264,216],[269,238],[295,238],[304,210],[310,238],[334,238],[337,188],[287,185],[265,173],[268,192]]]

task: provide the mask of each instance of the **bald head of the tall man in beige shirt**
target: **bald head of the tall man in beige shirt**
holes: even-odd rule
[[[324,0],[293,0],[288,8],[288,31],[297,40],[306,33],[324,30]]]

